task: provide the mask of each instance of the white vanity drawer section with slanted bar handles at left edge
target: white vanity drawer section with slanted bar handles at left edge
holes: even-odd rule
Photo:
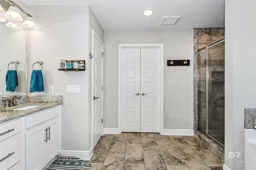
[[[6,170],[22,160],[21,119],[0,124],[0,169]],[[13,168],[11,168],[13,169]]]

